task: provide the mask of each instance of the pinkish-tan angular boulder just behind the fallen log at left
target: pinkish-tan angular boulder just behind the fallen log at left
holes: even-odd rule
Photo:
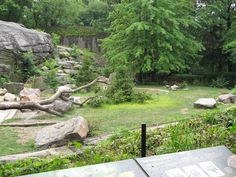
[[[20,99],[22,101],[39,101],[40,90],[34,88],[24,88],[20,92]]]

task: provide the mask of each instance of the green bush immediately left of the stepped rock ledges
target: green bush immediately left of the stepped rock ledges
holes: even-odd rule
[[[57,77],[58,68],[56,66],[56,61],[53,59],[46,60],[44,66],[47,67],[47,71],[41,71],[45,83],[50,88],[56,88],[59,86],[59,80]]]

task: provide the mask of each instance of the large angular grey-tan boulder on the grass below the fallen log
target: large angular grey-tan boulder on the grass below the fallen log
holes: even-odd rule
[[[88,132],[87,120],[79,116],[41,129],[37,133],[35,146],[48,148],[65,145],[71,140],[82,141]]]

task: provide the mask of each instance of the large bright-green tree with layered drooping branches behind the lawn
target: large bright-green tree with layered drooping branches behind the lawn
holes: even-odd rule
[[[110,14],[110,36],[102,42],[110,65],[128,65],[135,73],[188,70],[202,45],[191,29],[189,0],[123,0]]]

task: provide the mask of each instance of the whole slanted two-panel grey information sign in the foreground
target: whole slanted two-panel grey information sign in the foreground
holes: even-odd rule
[[[130,159],[24,177],[235,177],[236,155],[225,146]]]

